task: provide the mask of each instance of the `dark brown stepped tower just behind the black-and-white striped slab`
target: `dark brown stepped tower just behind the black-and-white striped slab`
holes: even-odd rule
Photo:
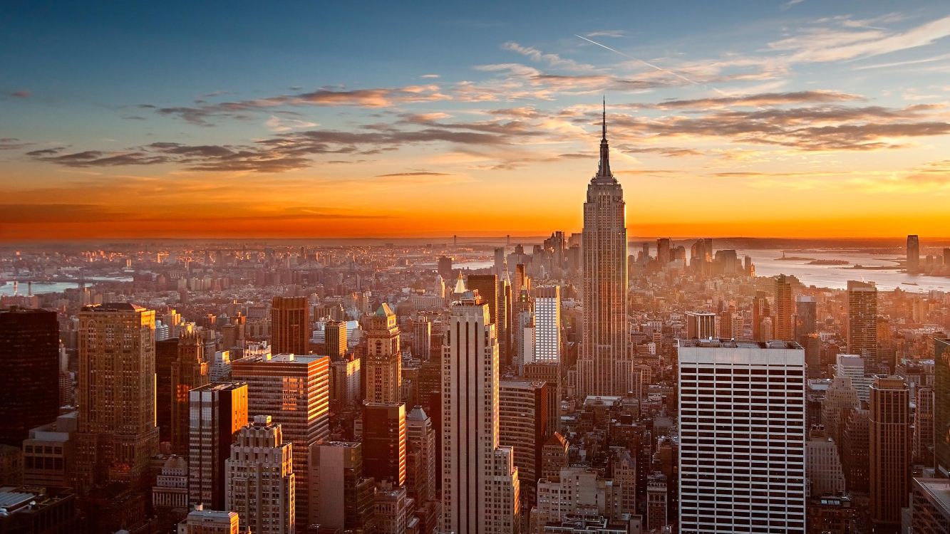
[[[189,408],[188,392],[210,381],[208,361],[204,358],[204,342],[199,335],[182,334],[178,340],[178,358],[170,366],[171,443],[172,452],[188,455]],[[213,506],[221,509],[220,506]]]

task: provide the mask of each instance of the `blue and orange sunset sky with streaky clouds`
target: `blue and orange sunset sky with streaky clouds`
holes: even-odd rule
[[[0,240],[950,237],[950,5],[21,2]],[[897,9],[897,10],[896,10]]]

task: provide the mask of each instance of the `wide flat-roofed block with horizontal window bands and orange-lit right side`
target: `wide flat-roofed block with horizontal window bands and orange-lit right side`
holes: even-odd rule
[[[231,376],[247,382],[248,414],[271,415],[293,445],[298,521],[313,523],[308,469],[311,447],[330,436],[330,358],[278,354],[238,359]]]

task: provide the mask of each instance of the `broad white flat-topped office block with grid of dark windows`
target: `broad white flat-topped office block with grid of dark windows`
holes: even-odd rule
[[[679,531],[804,533],[805,351],[680,340],[678,353]]]

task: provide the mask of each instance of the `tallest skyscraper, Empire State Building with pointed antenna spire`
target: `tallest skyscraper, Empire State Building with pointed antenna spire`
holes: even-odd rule
[[[627,359],[627,228],[623,190],[610,171],[604,110],[598,173],[587,186],[583,229],[580,396],[622,395],[618,363]]]

